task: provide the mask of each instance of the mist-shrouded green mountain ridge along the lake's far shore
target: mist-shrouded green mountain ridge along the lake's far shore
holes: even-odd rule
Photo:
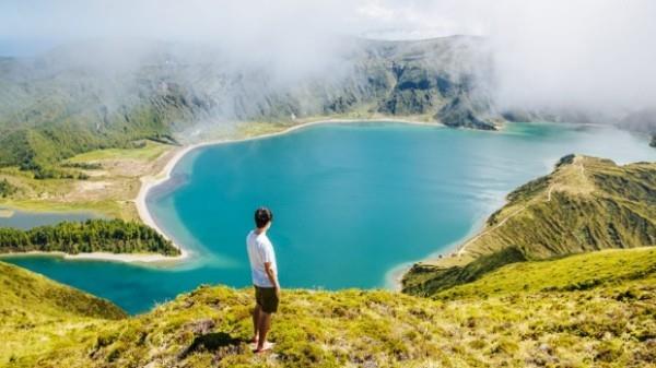
[[[27,61],[3,59],[0,166],[34,169],[139,139],[175,143],[197,127],[233,129],[237,121],[383,115],[495,129],[503,120],[483,111],[490,97],[478,37],[345,44],[335,64],[291,82],[266,66],[232,66],[211,47],[169,43],[81,43]],[[134,56],[122,60],[121,49]]]

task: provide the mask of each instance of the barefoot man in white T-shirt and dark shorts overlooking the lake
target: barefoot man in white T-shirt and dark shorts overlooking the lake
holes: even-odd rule
[[[250,261],[250,274],[255,286],[256,306],[253,311],[253,328],[255,335],[255,352],[270,351],[272,343],[267,341],[267,333],[271,328],[271,314],[278,311],[280,300],[280,283],[278,283],[278,266],[276,252],[267,230],[271,227],[273,214],[267,207],[255,211],[255,229],[246,237],[246,249]]]

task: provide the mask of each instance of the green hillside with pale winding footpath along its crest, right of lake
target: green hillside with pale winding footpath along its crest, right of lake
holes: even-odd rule
[[[433,295],[506,263],[656,245],[656,163],[570,155],[507,200],[458,250],[414,264],[403,290]]]

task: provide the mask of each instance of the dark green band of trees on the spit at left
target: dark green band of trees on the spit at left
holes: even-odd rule
[[[61,251],[178,256],[173,244],[145,225],[122,219],[87,219],[28,230],[0,227],[0,252]]]

